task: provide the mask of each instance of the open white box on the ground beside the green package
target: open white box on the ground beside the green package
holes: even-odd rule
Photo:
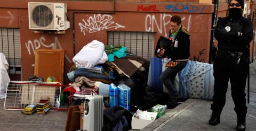
[[[148,112],[150,114],[150,116],[156,118],[157,116],[157,112]],[[146,127],[147,125],[149,125],[150,123],[152,123],[154,120],[143,120],[143,119],[138,119],[135,118],[135,114],[132,117],[132,129],[142,129],[144,127]]]

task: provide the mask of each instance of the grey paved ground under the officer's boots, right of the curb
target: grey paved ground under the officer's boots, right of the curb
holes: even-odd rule
[[[247,85],[246,85],[247,99]],[[174,109],[168,109],[164,116],[142,130],[236,130],[235,104],[231,98],[230,84],[226,95],[226,104],[220,118],[220,124],[208,124],[211,116],[212,101],[188,99]],[[256,75],[250,73],[250,103],[247,104],[246,130],[256,130]]]

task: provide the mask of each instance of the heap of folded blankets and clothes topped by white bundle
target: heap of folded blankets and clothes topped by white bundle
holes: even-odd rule
[[[110,84],[122,76],[130,78],[137,71],[144,71],[146,59],[126,52],[126,47],[105,46],[93,40],[85,45],[73,58],[75,67],[67,74],[76,91],[81,86],[95,86],[95,82]],[[93,57],[92,57],[93,56]]]

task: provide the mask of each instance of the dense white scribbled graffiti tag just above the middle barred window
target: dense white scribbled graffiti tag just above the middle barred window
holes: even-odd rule
[[[79,22],[78,25],[80,26],[81,32],[83,32],[84,35],[85,31],[93,33],[109,28],[125,28],[123,25],[111,21],[112,19],[113,16],[109,14],[94,14],[93,16],[90,16],[90,18],[88,18],[86,21],[82,19],[83,22]]]

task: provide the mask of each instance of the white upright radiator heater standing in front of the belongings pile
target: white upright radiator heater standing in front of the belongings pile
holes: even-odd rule
[[[83,130],[101,131],[103,127],[103,97],[91,95],[84,101],[84,125]]]

